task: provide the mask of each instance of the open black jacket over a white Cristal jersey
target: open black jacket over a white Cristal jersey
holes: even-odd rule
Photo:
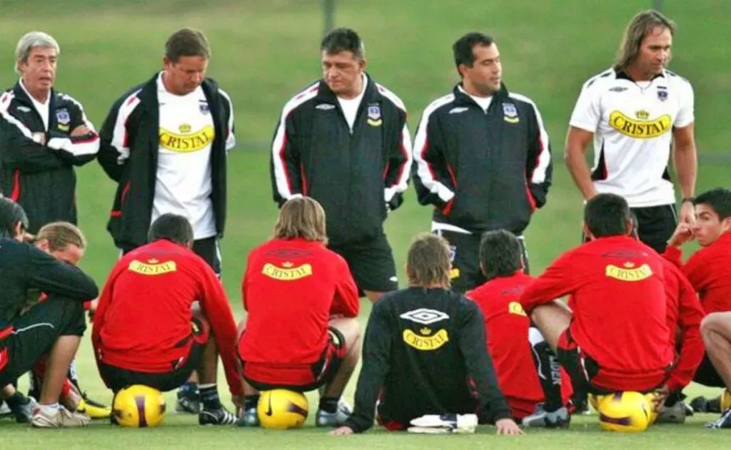
[[[118,183],[107,231],[118,248],[131,250],[147,243],[152,220],[159,153],[157,78],[135,86],[110,109],[100,131],[99,164]],[[226,140],[233,132],[232,104],[219,85],[206,78],[201,88],[213,117],[211,203],[218,237],[226,224]]]

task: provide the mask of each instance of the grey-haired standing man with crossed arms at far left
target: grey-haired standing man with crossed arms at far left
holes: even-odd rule
[[[81,104],[53,88],[59,53],[49,34],[23,35],[15,47],[20,79],[0,94],[0,194],[26,210],[31,234],[54,221],[77,223],[74,167],[99,150]]]

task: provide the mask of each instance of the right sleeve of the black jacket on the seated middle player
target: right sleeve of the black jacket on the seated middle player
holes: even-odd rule
[[[500,390],[492,359],[488,354],[485,319],[475,302],[465,301],[459,323],[459,347],[480,400],[480,418],[494,423],[510,418],[510,408]]]

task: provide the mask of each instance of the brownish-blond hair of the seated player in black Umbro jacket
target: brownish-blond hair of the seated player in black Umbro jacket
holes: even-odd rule
[[[450,245],[442,236],[417,234],[406,256],[406,274],[413,286],[450,286]]]

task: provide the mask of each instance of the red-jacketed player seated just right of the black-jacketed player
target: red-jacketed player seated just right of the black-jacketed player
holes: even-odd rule
[[[480,267],[488,282],[466,296],[485,316],[488,352],[512,416],[526,427],[567,426],[571,382],[565,373],[561,376],[555,357],[543,359],[549,367],[536,358],[548,350],[548,343],[518,302],[533,280],[523,272],[518,238],[502,229],[485,233]]]

